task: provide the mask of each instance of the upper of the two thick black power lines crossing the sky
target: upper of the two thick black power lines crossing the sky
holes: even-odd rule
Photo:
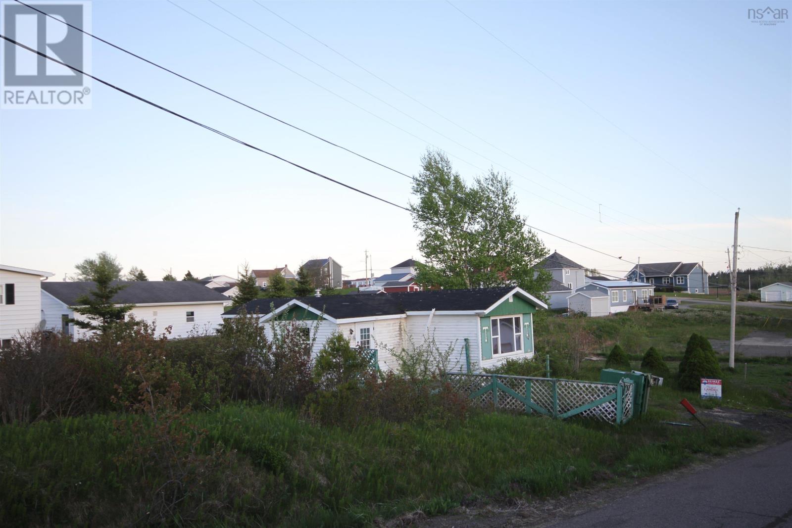
[[[210,1],[211,1],[211,0],[210,0]],[[398,170],[398,169],[394,169],[394,168],[390,167],[389,165],[385,165],[385,164],[383,164],[383,163],[381,163],[381,162],[379,162],[379,161],[375,161],[375,160],[373,160],[373,159],[371,159],[371,158],[368,158],[367,156],[364,156],[364,154],[360,154],[360,153],[358,153],[358,152],[356,152],[356,151],[354,151],[354,150],[351,150],[351,149],[349,149],[348,147],[341,146],[341,145],[337,144],[336,142],[332,142],[332,141],[329,141],[328,139],[322,138],[321,136],[319,136],[319,135],[316,135],[316,134],[314,134],[314,133],[312,133],[312,132],[310,132],[310,131],[307,131],[306,129],[304,129],[304,128],[302,128],[302,127],[298,127],[298,126],[296,126],[296,125],[294,125],[294,124],[292,124],[292,123],[288,123],[288,122],[287,122],[287,121],[285,121],[285,120],[281,120],[280,118],[278,118],[278,117],[276,117],[276,116],[272,116],[272,114],[269,114],[268,112],[265,112],[265,111],[261,110],[260,108],[255,108],[255,107],[253,107],[253,106],[252,106],[252,105],[250,105],[250,104],[246,104],[246,103],[244,103],[244,102],[242,102],[242,101],[239,101],[238,99],[235,99],[234,97],[230,97],[230,96],[228,96],[228,95],[227,95],[227,94],[225,94],[225,93],[219,92],[219,90],[212,89],[211,87],[209,87],[209,86],[207,86],[207,85],[204,85],[204,84],[202,84],[202,83],[200,83],[200,82],[196,82],[196,81],[194,81],[192,78],[188,78],[188,77],[186,77],[185,75],[179,74],[179,73],[177,73],[176,71],[173,71],[173,70],[171,70],[171,69],[167,68],[166,66],[162,66],[162,65],[160,65],[160,64],[158,64],[158,63],[154,63],[154,61],[152,61],[152,60],[150,60],[150,59],[146,59],[145,57],[143,57],[143,56],[141,56],[141,55],[138,55],[138,54],[135,54],[134,52],[132,52],[132,51],[129,51],[128,49],[126,49],[126,48],[124,48],[124,47],[121,47],[121,46],[119,46],[119,45],[117,45],[117,44],[113,44],[112,42],[109,42],[109,40],[102,39],[101,37],[99,37],[99,36],[96,36],[96,35],[94,35],[94,34],[93,34],[93,33],[91,33],[91,32],[87,32],[87,31],[85,31],[85,30],[84,30],[84,29],[82,29],[82,28],[78,28],[77,26],[71,25],[70,23],[68,23],[68,22],[66,22],[66,21],[63,21],[63,20],[61,20],[61,19],[59,19],[59,18],[52,17],[52,16],[51,16],[49,13],[45,13],[44,11],[41,11],[40,9],[36,9],[36,7],[34,7],[34,6],[29,6],[28,4],[25,4],[25,2],[21,2],[21,0],[16,0],[16,2],[18,2],[18,3],[22,4],[23,6],[29,7],[29,9],[35,10],[35,11],[37,11],[38,13],[44,14],[44,15],[45,15],[45,16],[47,16],[47,17],[51,17],[53,20],[60,21],[61,23],[63,23],[63,24],[65,24],[65,25],[69,26],[70,28],[74,28],[74,29],[76,29],[76,30],[78,30],[78,31],[80,31],[80,32],[83,32],[83,33],[85,33],[86,35],[88,35],[88,36],[91,36],[92,38],[94,38],[94,39],[96,39],[96,40],[98,40],[98,41],[102,42],[103,44],[107,44],[107,45],[109,45],[110,47],[113,47],[113,48],[115,48],[115,49],[116,49],[116,50],[118,50],[118,51],[122,51],[122,52],[124,52],[124,53],[126,53],[126,54],[128,54],[128,55],[131,55],[131,56],[135,57],[135,59],[139,59],[139,60],[141,60],[141,61],[143,61],[143,62],[145,62],[145,63],[147,63],[147,64],[150,64],[151,66],[155,66],[155,67],[159,68],[160,70],[166,71],[166,72],[168,72],[169,74],[173,74],[173,75],[175,75],[176,77],[178,77],[178,78],[181,78],[182,80],[185,80],[185,81],[187,81],[187,82],[190,82],[190,83],[192,83],[193,85],[197,85],[197,86],[199,86],[200,88],[206,89],[206,90],[208,90],[208,91],[209,91],[209,92],[211,92],[211,93],[215,93],[216,95],[219,95],[220,97],[224,97],[224,98],[225,98],[225,99],[227,99],[228,101],[233,101],[234,103],[240,104],[240,105],[241,105],[242,107],[244,107],[244,108],[248,108],[248,109],[250,109],[250,110],[253,110],[253,112],[257,112],[257,113],[259,113],[259,114],[261,114],[261,115],[263,115],[263,116],[266,116],[266,117],[268,117],[268,118],[270,118],[270,119],[272,119],[272,120],[275,120],[275,121],[277,121],[278,123],[285,124],[285,125],[286,125],[286,126],[288,126],[288,127],[291,127],[291,128],[293,128],[293,129],[295,129],[295,130],[298,130],[298,131],[301,131],[301,132],[303,132],[303,133],[305,133],[305,134],[307,134],[307,135],[310,135],[310,136],[311,136],[311,137],[313,137],[314,139],[318,139],[318,140],[320,140],[320,141],[322,141],[322,142],[326,142],[327,144],[329,144],[329,145],[331,145],[331,146],[336,146],[337,148],[340,148],[341,150],[345,150],[345,151],[346,151],[346,152],[348,152],[349,154],[353,154],[353,155],[355,155],[355,156],[357,156],[357,157],[359,157],[359,158],[362,158],[362,159],[364,159],[364,160],[366,160],[366,161],[370,161],[371,163],[374,163],[375,165],[379,165],[380,167],[383,167],[384,169],[388,169],[388,170],[390,170],[390,171],[392,171],[392,172],[394,172],[394,173],[400,174],[400,175],[402,175],[403,177],[409,178],[410,180],[413,180],[413,181],[415,180],[415,178],[414,178],[414,177],[411,177],[411,176],[409,176],[408,174],[406,174],[406,173],[403,173],[402,171],[400,171],[400,170]],[[173,2],[171,2],[171,3],[173,3]],[[213,3],[214,3],[214,2],[213,2]],[[215,5],[216,5],[216,4],[215,4]],[[175,6],[175,4],[174,4],[174,6]],[[181,8],[181,6],[177,6],[177,7],[179,7],[180,9],[182,9],[182,10],[185,10],[185,11],[186,11],[186,9],[183,9],[183,8]],[[218,6],[218,7],[220,7],[220,6]],[[220,9],[224,9],[224,8],[222,8],[222,7],[221,7]],[[224,10],[226,10],[226,9],[224,9]],[[189,13],[188,11],[186,11],[186,12],[187,12],[187,13]],[[190,13],[190,14],[192,14],[192,13]],[[233,14],[233,13],[231,13],[231,14]],[[234,16],[235,16],[235,15],[234,15]],[[198,17],[198,18],[200,19],[200,17]],[[201,20],[201,21],[203,21],[203,19],[200,19],[200,20]],[[204,22],[205,22],[205,21],[204,21]],[[208,24],[208,22],[206,22],[206,23]],[[209,24],[209,25],[211,25],[211,24]],[[211,27],[215,28],[215,26],[214,26],[214,25],[211,25]],[[219,28],[218,28],[218,30],[219,30]],[[221,32],[222,32],[222,30],[219,30],[219,31],[221,31]],[[227,34],[227,33],[226,33],[226,34]],[[230,36],[230,35],[229,35],[229,36]],[[231,37],[231,38],[234,38],[233,36],[230,36],[230,37]],[[244,43],[242,43],[242,44],[244,44]],[[291,48],[290,48],[290,49],[291,49]],[[265,56],[266,56],[266,55],[265,55]],[[463,161],[464,161],[464,160],[463,160]],[[516,185],[516,187],[520,188],[518,185]],[[437,189],[437,188],[436,188],[435,190],[436,190],[436,191],[440,191],[440,192],[444,192],[444,190],[443,190],[443,189]],[[544,199],[546,202],[552,203],[552,204],[554,204],[554,205],[555,205],[555,206],[557,206],[557,207],[562,207],[562,208],[564,208],[564,209],[566,209],[566,210],[568,210],[568,211],[572,211],[572,212],[576,213],[577,215],[581,215],[581,216],[583,216],[584,218],[588,218],[588,219],[590,219],[590,220],[595,220],[595,219],[596,219],[596,218],[592,218],[592,217],[590,217],[590,216],[588,216],[588,215],[584,215],[584,214],[583,214],[583,213],[581,213],[580,211],[577,211],[577,210],[575,210],[575,209],[572,209],[572,208],[570,208],[570,207],[566,207],[566,206],[562,205],[561,203],[557,203],[557,202],[554,202],[553,200],[550,200],[550,199],[547,199],[547,198],[545,198],[545,197],[543,197],[543,196],[540,196],[540,195],[536,194],[535,192],[528,191],[527,189],[524,189],[524,190],[525,190],[526,192],[530,192],[531,194],[534,194],[535,196],[538,196],[540,199]],[[581,204],[581,205],[582,205],[582,204]],[[607,216],[607,215],[606,215],[606,216]],[[609,218],[611,218],[611,217],[609,217]],[[615,218],[614,218],[614,219],[615,219]],[[617,220],[617,221],[618,221],[618,220]],[[603,222],[603,223],[604,223],[604,222]],[[624,223],[624,222],[622,222],[622,223]],[[608,225],[608,224],[604,224],[604,225]],[[631,233],[629,233],[629,232],[627,232],[627,231],[625,231],[625,230],[621,230],[621,229],[619,229],[619,228],[618,228],[618,227],[616,227],[616,226],[611,226],[611,227],[613,227],[613,228],[614,228],[614,229],[616,229],[616,230],[619,230],[620,232],[622,232],[622,233],[624,233],[624,234],[630,235],[630,236],[632,236],[632,237],[636,237],[636,238],[638,238],[639,240],[646,241],[646,242],[649,242],[649,243],[652,243],[652,244],[655,244],[655,245],[659,245],[659,246],[661,246],[661,247],[663,247],[663,248],[665,248],[665,249],[669,249],[669,250],[672,250],[672,251],[680,251],[679,249],[672,249],[672,248],[668,248],[668,246],[661,245],[661,244],[657,243],[656,241],[651,241],[651,240],[648,240],[648,239],[646,239],[646,238],[643,238],[643,237],[638,237],[638,235],[631,234]],[[639,228],[639,229],[640,229],[640,228]],[[649,235],[650,235],[650,236],[653,236],[652,234],[649,234]],[[664,238],[664,237],[661,237],[661,238]],[[667,240],[670,240],[670,239],[667,239]],[[686,253],[686,252],[682,252],[682,253]]]

